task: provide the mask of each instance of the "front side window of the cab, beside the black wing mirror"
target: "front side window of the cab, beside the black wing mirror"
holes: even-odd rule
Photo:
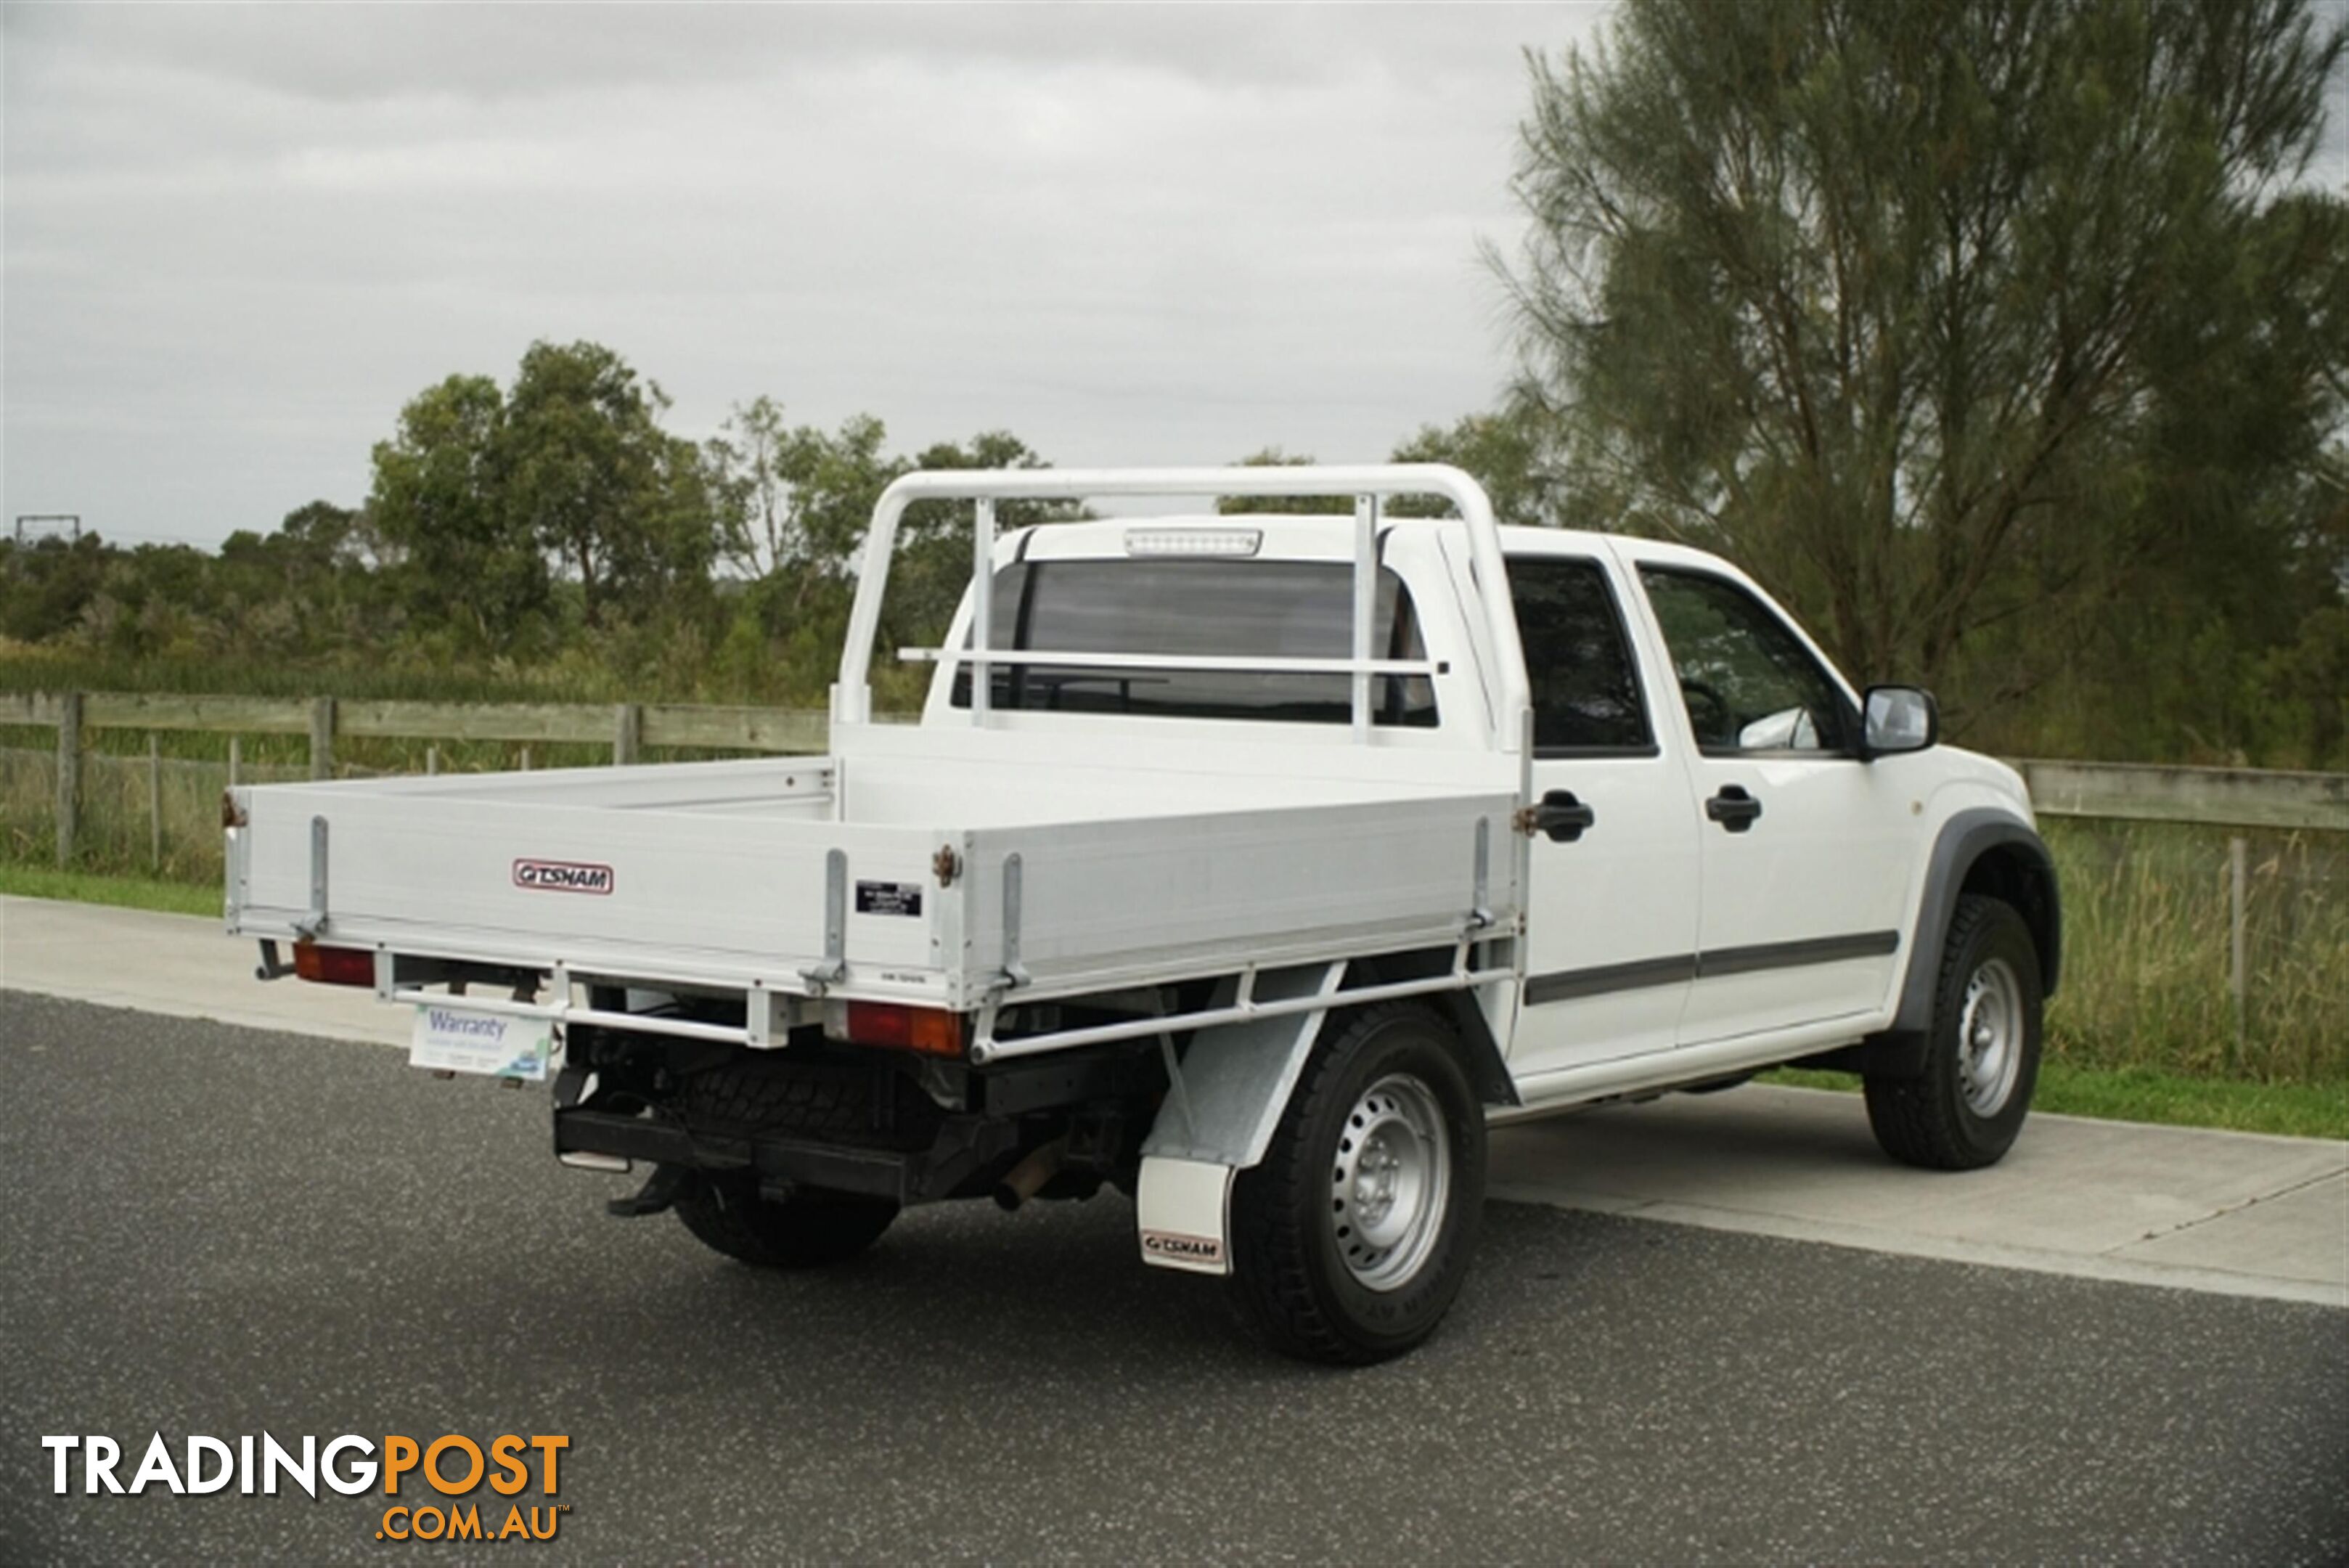
[[[1640,567],[1640,585],[1705,755],[1849,748],[1842,691],[1762,599],[1727,578],[1670,567]]]

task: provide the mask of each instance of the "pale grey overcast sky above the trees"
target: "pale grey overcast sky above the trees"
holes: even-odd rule
[[[451,371],[594,339],[709,435],[1381,458],[1508,371],[1525,45],[1604,5],[7,5],[5,512],[357,503]]]

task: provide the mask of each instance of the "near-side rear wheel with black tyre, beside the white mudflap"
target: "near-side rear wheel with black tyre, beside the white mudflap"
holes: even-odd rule
[[[1414,1006],[1332,1025],[1231,1197],[1233,1288],[1273,1349],[1360,1366],[1426,1340],[1468,1276],[1485,1107]]]

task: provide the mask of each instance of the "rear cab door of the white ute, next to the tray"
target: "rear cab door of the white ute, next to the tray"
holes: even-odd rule
[[[1696,811],[1626,630],[1628,581],[1604,552],[1560,545],[1508,557],[1541,823],[1510,1044],[1529,1100],[1546,1072],[1672,1048],[1698,929]]]

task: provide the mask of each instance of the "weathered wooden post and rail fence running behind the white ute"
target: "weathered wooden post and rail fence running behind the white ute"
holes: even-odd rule
[[[709,708],[684,703],[418,703],[352,698],[181,696],[162,691],[0,691],[0,726],[56,731],[56,863],[73,860],[87,731],[148,733],[153,856],[162,858],[164,731],[230,738],[228,778],[237,780],[240,736],[303,736],[310,778],[334,776],[338,738],[489,741],[611,748],[615,764],[646,748],[738,752],[820,752],[829,722],[815,710]],[[437,755],[428,752],[428,771]],[[2018,759],[2032,804],[2048,818],[2178,823],[2236,830],[2229,842],[2229,907],[2236,1032],[2246,1006],[2246,837],[2264,832],[2349,832],[2349,773],[2206,769],[2128,762]]]

